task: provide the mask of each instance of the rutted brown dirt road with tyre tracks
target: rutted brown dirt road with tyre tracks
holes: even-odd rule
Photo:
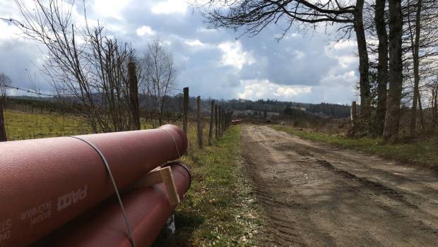
[[[244,126],[243,140],[261,245],[438,246],[438,174],[268,126]]]

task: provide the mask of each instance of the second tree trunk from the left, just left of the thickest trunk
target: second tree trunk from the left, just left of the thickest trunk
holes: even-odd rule
[[[388,33],[385,21],[386,0],[376,0],[374,22],[376,24],[377,37],[379,37],[379,61],[377,64],[377,109],[376,109],[376,132],[383,135],[386,113],[386,85],[388,83]]]

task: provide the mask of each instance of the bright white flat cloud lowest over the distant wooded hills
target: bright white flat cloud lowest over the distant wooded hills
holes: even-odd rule
[[[301,85],[278,85],[269,80],[240,80],[242,91],[237,94],[246,100],[276,98],[278,100],[292,100],[293,96],[308,94],[312,87]]]

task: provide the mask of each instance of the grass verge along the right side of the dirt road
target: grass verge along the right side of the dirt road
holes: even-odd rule
[[[315,131],[304,131],[291,126],[271,126],[277,131],[284,131],[300,138],[329,143],[337,147],[349,148],[379,155],[398,162],[421,164],[438,169],[438,138],[427,138],[412,143],[387,144],[381,138],[346,138]]]

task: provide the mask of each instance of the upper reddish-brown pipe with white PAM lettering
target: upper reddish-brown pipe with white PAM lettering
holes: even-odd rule
[[[119,188],[183,155],[177,126],[81,135]],[[0,143],[0,246],[28,246],[114,193],[96,150],[71,137]]]

